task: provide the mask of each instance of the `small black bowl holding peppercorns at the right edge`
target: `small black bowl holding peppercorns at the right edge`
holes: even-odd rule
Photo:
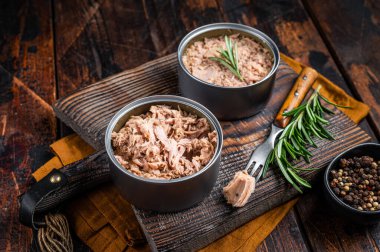
[[[359,144],[337,156],[325,170],[325,174],[323,176],[324,195],[332,209],[334,209],[341,216],[357,224],[374,224],[380,221],[380,210],[371,212],[359,211],[339,199],[329,185],[330,170],[338,167],[339,160],[341,158],[352,158],[354,156],[371,156],[375,160],[380,160],[380,144]]]

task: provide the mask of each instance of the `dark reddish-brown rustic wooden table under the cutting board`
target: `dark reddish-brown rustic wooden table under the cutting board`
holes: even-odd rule
[[[70,133],[54,116],[58,98],[175,52],[200,25],[238,22],[271,36],[371,106],[360,125],[380,139],[380,1],[12,0],[0,3],[0,251],[25,251],[17,196]],[[330,213],[316,186],[259,250],[380,248],[380,225],[357,227]]]

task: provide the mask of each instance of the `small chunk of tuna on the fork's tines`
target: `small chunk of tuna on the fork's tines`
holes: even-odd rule
[[[224,197],[228,204],[234,207],[244,206],[255,190],[255,178],[247,171],[238,171],[234,178],[223,188]]]

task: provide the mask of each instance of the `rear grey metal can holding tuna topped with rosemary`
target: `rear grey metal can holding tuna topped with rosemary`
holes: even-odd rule
[[[189,45],[206,37],[239,33],[267,47],[273,56],[273,66],[262,80],[245,87],[224,87],[194,77],[185,67],[182,56]],[[221,120],[234,120],[252,116],[266,105],[273,88],[280,64],[280,53],[276,44],[263,32],[252,27],[217,23],[199,27],[188,33],[178,47],[178,84],[183,96],[206,106]]]

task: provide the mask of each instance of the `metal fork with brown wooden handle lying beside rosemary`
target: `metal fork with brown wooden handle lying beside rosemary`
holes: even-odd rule
[[[249,159],[245,170],[249,172],[252,164],[255,163],[252,167],[251,172],[249,173],[254,178],[260,178],[261,174],[263,173],[262,167],[264,166],[269,153],[274,148],[277,136],[284,130],[290,121],[289,117],[284,117],[282,114],[285,111],[290,111],[294,108],[297,108],[301,104],[302,100],[305,98],[307,92],[317,77],[318,73],[309,67],[305,67],[298,76],[295,84],[293,85],[293,88],[290,90],[287,98],[285,99],[285,102],[283,103],[281,109],[277,113],[274,122],[272,123],[272,129],[269,137],[251,154],[251,158]],[[257,176],[254,176],[259,168],[261,169],[260,172]]]

